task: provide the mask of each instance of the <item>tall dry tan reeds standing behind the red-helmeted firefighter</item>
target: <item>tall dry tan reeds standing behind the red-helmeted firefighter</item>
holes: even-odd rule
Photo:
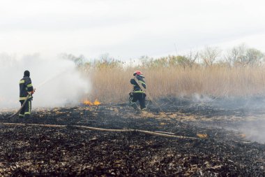
[[[137,68],[144,73],[147,88],[155,99],[206,94],[213,97],[248,97],[264,94],[265,68],[196,66]],[[92,82],[91,100],[104,103],[128,101],[130,78],[136,68],[90,69],[85,72]]]

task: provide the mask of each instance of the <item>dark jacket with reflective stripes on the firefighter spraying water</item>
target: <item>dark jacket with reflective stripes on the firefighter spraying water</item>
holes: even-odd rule
[[[20,101],[25,100],[27,98],[28,92],[33,91],[33,86],[31,84],[31,78],[28,76],[24,76],[20,80]],[[32,99],[32,96],[29,95],[29,100]]]

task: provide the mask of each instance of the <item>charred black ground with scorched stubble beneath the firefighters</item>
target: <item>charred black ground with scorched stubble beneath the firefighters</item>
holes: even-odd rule
[[[141,114],[127,104],[36,108],[31,120],[9,119],[12,112],[2,112],[1,122],[68,126],[0,124],[0,176],[265,176],[263,139],[256,142],[242,128],[254,122],[262,129],[265,111],[215,103],[161,99],[158,104],[166,115],[151,103],[148,113]],[[171,132],[198,139],[72,125]]]

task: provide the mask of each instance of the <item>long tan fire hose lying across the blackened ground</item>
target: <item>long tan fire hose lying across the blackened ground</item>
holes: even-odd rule
[[[76,128],[83,128],[83,129],[91,129],[96,131],[104,131],[104,132],[140,132],[144,134],[150,134],[153,136],[162,136],[167,138],[178,138],[178,139],[198,139],[196,137],[189,137],[189,136],[178,136],[174,135],[169,132],[151,132],[141,129],[103,129],[97,127],[88,127],[83,125],[47,125],[47,124],[22,124],[22,123],[8,123],[8,122],[1,122],[1,125],[14,125],[14,126],[38,126],[38,127],[56,127],[56,128],[67,128],[67,127],[76,127]]]

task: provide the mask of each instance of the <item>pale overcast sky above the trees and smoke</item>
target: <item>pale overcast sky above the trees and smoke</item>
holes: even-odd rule
[[[245,43],[265,52],[265,1],[0,0],[0,53],[117,59]],[[176,49],[175,49],[176,46]]]

